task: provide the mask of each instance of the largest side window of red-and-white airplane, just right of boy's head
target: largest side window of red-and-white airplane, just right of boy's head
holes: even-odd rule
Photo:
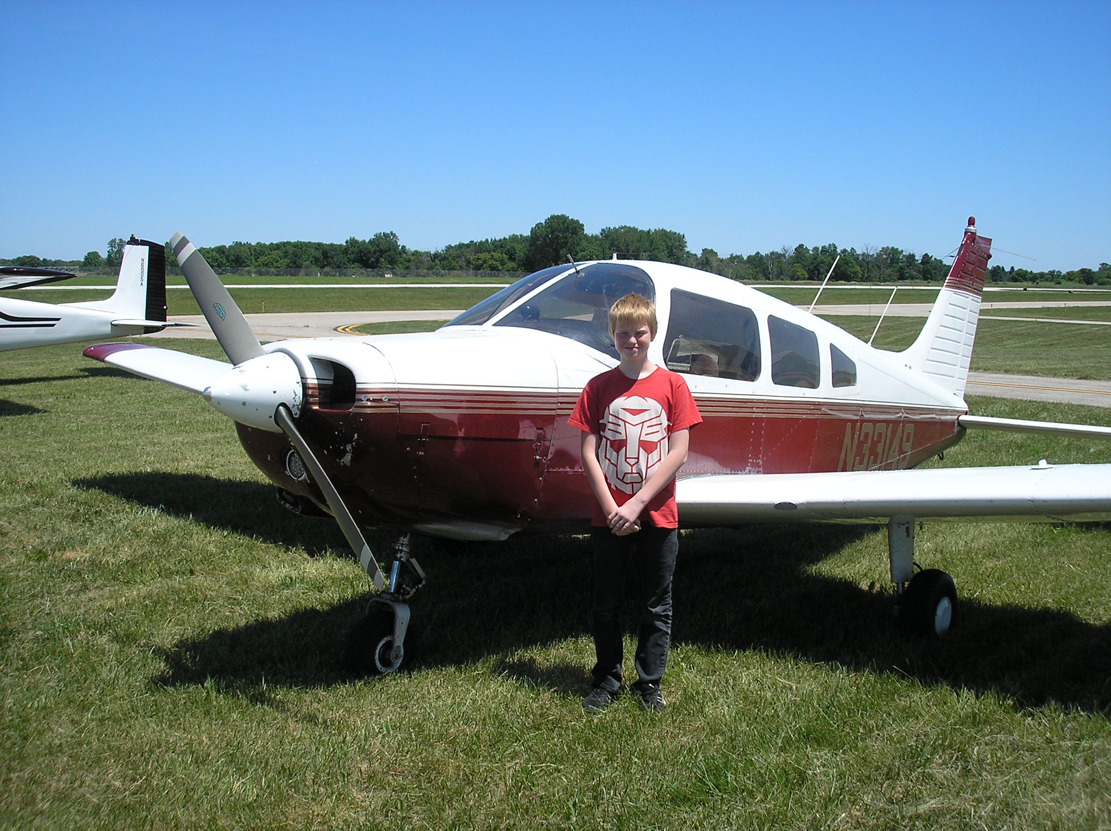
[[[673,372],[754,381],[760,376],[760,328],[751,309],[674,289],[663,340]]]

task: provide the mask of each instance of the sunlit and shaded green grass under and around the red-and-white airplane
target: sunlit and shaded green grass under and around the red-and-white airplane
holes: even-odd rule
[[[965,599],[937,642],[890,627],[882,529],[687,532],[671,705],[601,718],[585,540],[418,539],[420,658],[358,680],[367,579],[334,523],[281,510],[196,396],[79,349],[0,369],[2,828],[1111,823],[1104,527],[920,530]],[[970,433],[943,463],[1039,458],[1111,445]]]

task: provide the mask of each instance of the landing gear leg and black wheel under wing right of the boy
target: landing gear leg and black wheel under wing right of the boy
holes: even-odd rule
[[[911,634],[941,637],[953,624],[957,585],[939,569],[914,573],[914,518],[888,521],[888,559],[895,584],[895,620]]]

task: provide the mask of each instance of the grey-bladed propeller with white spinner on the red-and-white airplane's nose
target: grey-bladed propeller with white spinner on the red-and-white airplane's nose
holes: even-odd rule
[[[348,544],[359,555],[362,568],[380,591],[386,585],[386,577],[378,560],[336,485],[293,423],[293,419],[300,413],[302,400],[301,373],[293,359],[280,352],[268,353],[262,349],[250,323],[220,282],[220,278],[180,231],[173,234],[170,247],[216,339],[236,364],[201,394],[212,407],[237,421],[272,432],[281,431],[289,437],[323,493]]]

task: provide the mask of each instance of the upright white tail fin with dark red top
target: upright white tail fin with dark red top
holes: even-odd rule
[[[960,398],[964,398],[990,259],[991,240],[977,236],[975,218],[969,217],[957,259],[925,326],[918,340],[900,353],[908,367]]]

